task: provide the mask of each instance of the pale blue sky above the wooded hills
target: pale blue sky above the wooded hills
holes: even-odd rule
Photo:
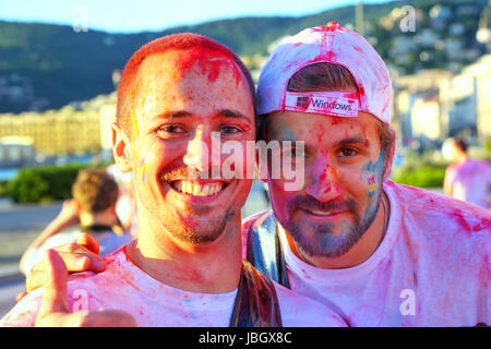
[[[159,31],[247,15],[304,15],[358,0],[0,0],[0,20],[72,25],[84,11],[88,29]],[[388,0],[363,0],[363,3]],[[124,3],[124,5],[121,5]],[[80,8],[83,7],[81,11]]]

